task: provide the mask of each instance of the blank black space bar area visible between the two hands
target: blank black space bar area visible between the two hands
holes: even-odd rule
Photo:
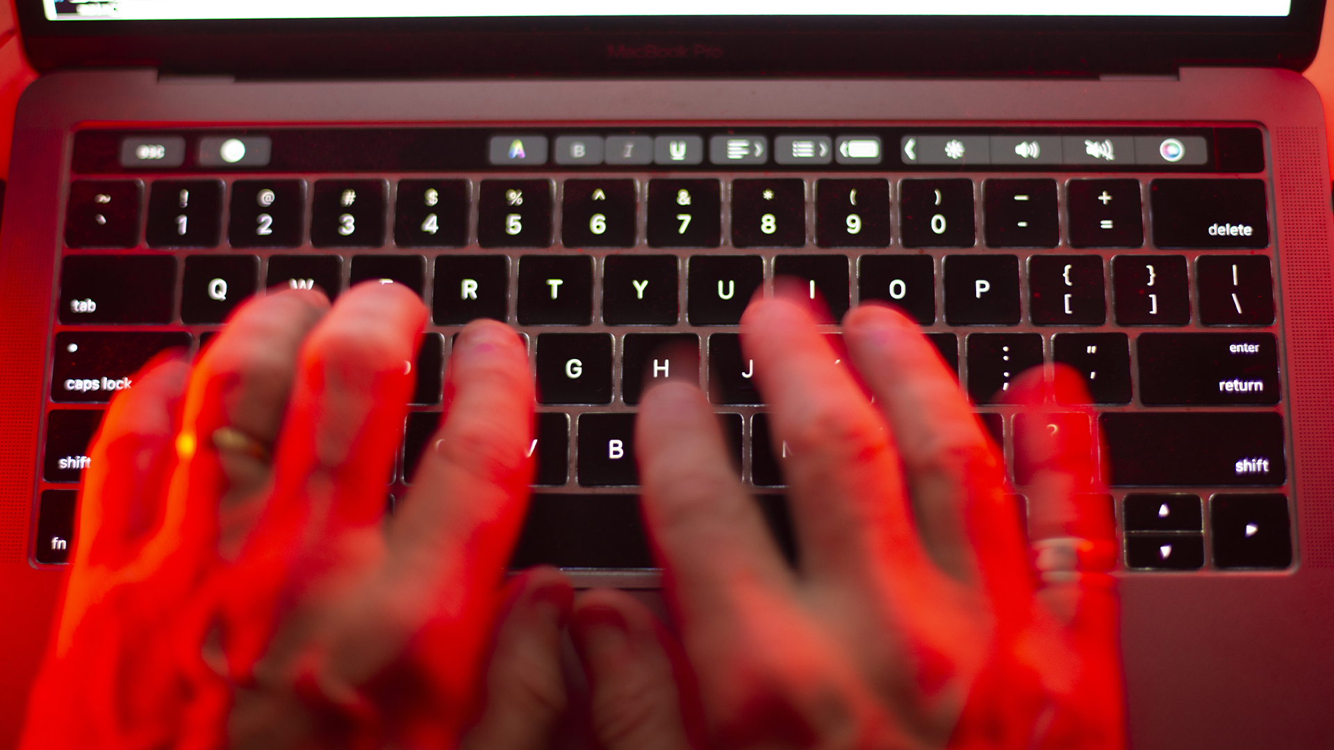
[[[528,515],[510,567],[654,567],[636,495],[543,495]]]

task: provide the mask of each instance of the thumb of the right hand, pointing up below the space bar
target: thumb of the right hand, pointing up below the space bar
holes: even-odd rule
[[[592,734],[603,750],[687,750],[671,637],[628,594],[582,594],[570,625],[588,675]],[[688,691],[687,691],[688,693]]]

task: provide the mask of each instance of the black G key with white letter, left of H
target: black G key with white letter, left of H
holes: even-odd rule
[[[611,403],[611,334],[540,334],[538,403]]]

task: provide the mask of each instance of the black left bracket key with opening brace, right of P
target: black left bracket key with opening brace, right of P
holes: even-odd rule
[[[1107,320],[1102,258],[1035,255],[1029,259],[1029,315],[1037,326],[1102,326]]]

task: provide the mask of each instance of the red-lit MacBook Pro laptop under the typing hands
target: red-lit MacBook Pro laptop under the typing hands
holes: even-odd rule
[[[514,324],[539,404],[512,563],[652,595],[632,426],[655,376],[699,378],[800,556],[738,342],[746,302],[787,275],[835,316],[914,316],[1021,496],[1000,396],[1031,366],[1085,375],[1135,749],[1334,745],[1330,176],[1294,72],[1321,0],[17,15],[41,76],[0,235],[0,743],[109,398],[247,296],[394,279],[431,308],[390,508],[452,335]]]

